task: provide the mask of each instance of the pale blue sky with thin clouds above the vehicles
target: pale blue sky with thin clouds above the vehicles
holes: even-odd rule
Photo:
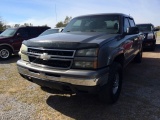
[[[0,0],[0,17],[7,24],[32,23],[54,28],[66,16],[125,13],[136,23],[160,26],[160,0]]]

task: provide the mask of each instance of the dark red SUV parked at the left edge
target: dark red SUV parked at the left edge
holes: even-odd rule
[[[50,27],[28,26],[6,29],[0,34],[0,60],[6,60],[12,54],[17,54],[23,40],[37,37],[47,29]]]

